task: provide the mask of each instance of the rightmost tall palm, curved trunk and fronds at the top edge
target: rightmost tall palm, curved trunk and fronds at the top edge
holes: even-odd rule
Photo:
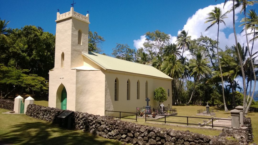
[[[242,8],[241,8],[241,11],[244,11],[244,15],[245,15],[245,26],[246,26],[246,6],[247,5],[254,5],[254,3],[257,3],[257,1],[247,1],[247,0],[241,0],[239,1],[238,5],[242,5]],[[250,49],[249,49],[249,41],[248,41],[248,38],[247,38],[247,27],[245,28],[245,36],[246,36],[246,43],[247,43],[247,49],[248,49],[248,53],[249,53],[249,57],[250,59],[252,60],[252,52],[250,52]],[[255,71],[254,71],[254,64],[253,64],[253,61],[250,61],[251,62],[251,69],[253,70],[253,75],[254,75],[254,80],[256,80],[256,76],[255,76]],[[251,71],[252,71],[251,70]],[[252,97],[254,96],[254,91],[255,91],[255,85],[256,85],[256,81],[254,81],[254,88],[253,88],[253,92],[252,92]],[[250,86],[251,88],[251,86]],[[250,103],[251,105],[251,103]],[[249,108],[249,107],[248,107]],[[247,109],[248,110],[248,109]]]

